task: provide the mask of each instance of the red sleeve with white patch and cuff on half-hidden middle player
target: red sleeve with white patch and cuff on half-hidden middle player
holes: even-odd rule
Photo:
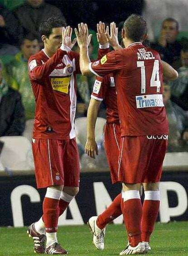
[[[108,83],[109,83],[109,75],[105,75],[104,77],[96,76],[93,90],[91,93],[91,98],[102,101],[105,97]]]

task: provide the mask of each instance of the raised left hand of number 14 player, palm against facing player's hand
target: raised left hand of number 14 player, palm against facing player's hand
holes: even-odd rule
[[[91,41],[92,34],[89,35],[88,33],[88,26],[87,24],[81,23],[78,25],[78,30],[74,29],[77,42],[79,45],[79,48],[81,46],[86,46],[88,47]]]

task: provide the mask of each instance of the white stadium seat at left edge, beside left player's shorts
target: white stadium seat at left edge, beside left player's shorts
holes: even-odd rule
[[[33,156],[30,141],[24,136],[4,136],[0,162],[10,171],[33,170]]]

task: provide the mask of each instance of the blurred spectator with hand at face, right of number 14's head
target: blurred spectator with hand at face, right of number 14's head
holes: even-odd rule
[[[151,48],[157,50],[161,59],[170,65],[180,59],[182,45],[177,41],[178,32],[178,21],[173,18],[167,18],[163,20],[158,42],[151,44]]]

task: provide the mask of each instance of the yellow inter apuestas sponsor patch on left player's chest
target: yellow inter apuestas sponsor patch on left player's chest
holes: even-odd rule
[[[66,94],[69,93],[69,82],[70,82],[70,76],[61,77],[61,78],[59,77],[51,78],[51,85],[53,90],[64,92]]]

